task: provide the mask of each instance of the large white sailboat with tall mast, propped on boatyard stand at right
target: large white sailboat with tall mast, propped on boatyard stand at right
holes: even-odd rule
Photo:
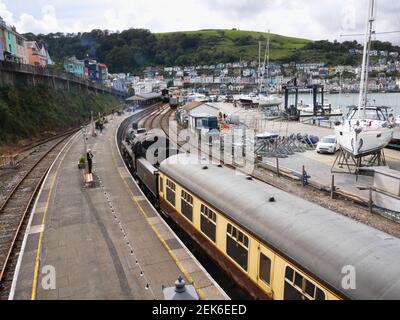
[[[367,28],[361,71],[358,106],[353,107],[348,118],[335,126],[336,138],[344,151],[355,157],[362,157],[386,147],[393,138],[393,127],[389,124],[387,108],[368,105],[369,52],[373,23],[375,21],[375,0],[369,1]]]

